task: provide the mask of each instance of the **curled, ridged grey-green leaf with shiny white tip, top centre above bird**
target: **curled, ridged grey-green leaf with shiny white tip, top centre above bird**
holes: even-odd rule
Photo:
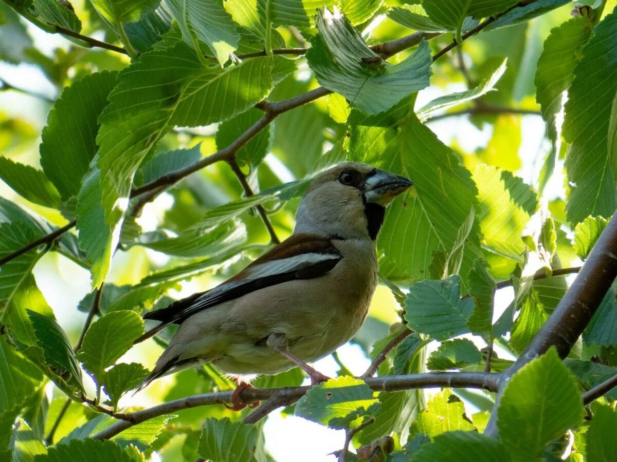
[[[429,84],[431,53],[422,42],[396,65],[387,63],[363,42],[339,10],[318,10],[319,34],[306,57],[317,81],[346,97],[360,110],[376,114]]]

